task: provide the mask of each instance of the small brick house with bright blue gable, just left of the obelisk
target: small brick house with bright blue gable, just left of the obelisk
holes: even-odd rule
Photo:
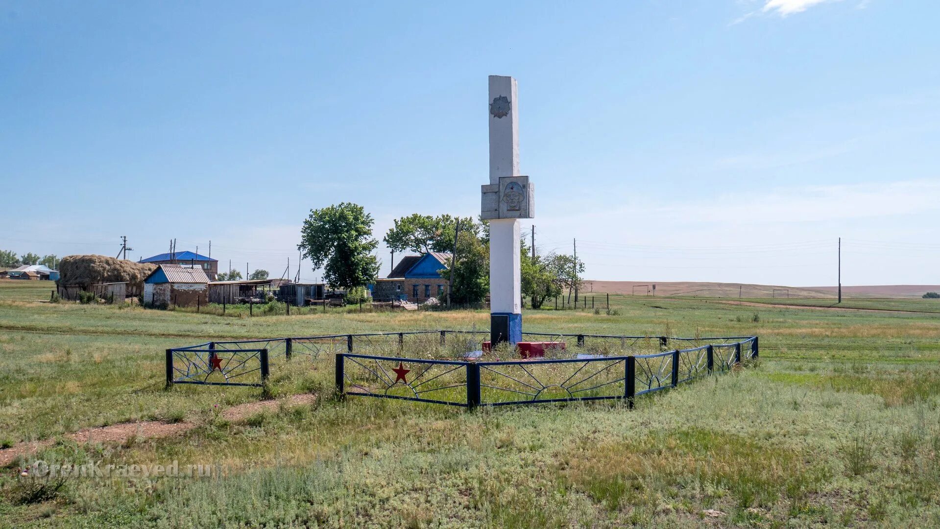
[[[388,277],[370,285],[372,299],[377,302],[403,300],[424,303],[430,298],[444,302],[447,280],[440,271],[450,268],[450,254],[430,252],[423,256],[402,257]]]

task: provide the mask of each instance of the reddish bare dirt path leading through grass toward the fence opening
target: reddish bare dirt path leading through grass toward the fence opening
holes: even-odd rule
[[[276,409],[281,402],[289,404],[308,404],[313,402],[317,396],[310,394],[292,395],[290,397],[278,400],[261,400],[258,402],[246,402],[238,406],[227,408],[221,413],[222,417],[229,421],[239,421],[265,410]],[[71,433],[66,433],[62,437],[71,439],[75,443],[124,443],[127,440],[138,437],[140,439],[149,439],[154,437],[170,437],[180,435],[181,433],[196,428],[196,423],[164,423],[163,421],[138,421],[134,423],[120,423],[106,427],[85,428]],[[20,456],[33,454],[45,446],[54,443],[52,439],[42,441],[31,441],[16,443],[9,448],[0,448],[0,468],[7,466]]]

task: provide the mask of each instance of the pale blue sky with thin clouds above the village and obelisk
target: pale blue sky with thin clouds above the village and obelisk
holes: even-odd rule
[[[308,210],[476,215],[519,82],[591,279],[940,283],[940,3],[0,2],[0,248],[296,267]],[[380,248],[383,271],[389,259]],[[306,279],[319,273],[309,263]]]

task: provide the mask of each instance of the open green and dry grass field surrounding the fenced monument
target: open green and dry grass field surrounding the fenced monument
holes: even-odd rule
[[[36,481],[19,478],[14,461],[0,472],[0,527],[940,526],[932,300],[881,307],[921,314],[630,296],[611,296],[613,315],[525,312],[532,332],[760,335],[757,365],[641,397],[633,411],[619,402],[465,412],[337,401],[324,359],[280,366],[271,387],[280,404],[227,420],[220,411],[258,401],[258,388],[164,390],[165,349],[485,329],[489,316],[221,317],[40,303],[50,290],[0,282],[0,446],[55,441],[37,457],[218,464],[225,475],[70,477],[53,497],[30,502]],[[293,394],[314,397],[290,404]],[[193,428],[123,443],[65,437],[137,420]]]

